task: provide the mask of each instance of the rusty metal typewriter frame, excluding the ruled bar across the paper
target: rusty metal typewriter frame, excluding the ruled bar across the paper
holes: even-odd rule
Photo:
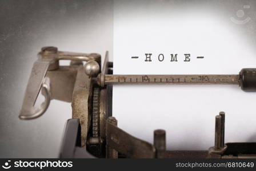
[[[50,59],[50,60],[48,60]],[[58,60],[71,60],[70,66],[59,66]],[[40,62],[49,62],[38,74]],[[215,144],[209,150],[166,150],[165,131],[154,131],[154,144],[147,143],[129,135],[117,127],[117,120],[112,117],[113,85],[101,85],[95,77],[85,74],[82,61],[94,60],[99,64],[101,74],[113,74],[113,62],[109,62],[106,52],[101,68],[99,54],[78,54],[60,52],[55,47],[44,47],[39,52],[39,63],[35,63],[25,99],[23,101],[21,119],[33,119],[44,113],[51,99],[71,102],[72,119],[66,123],[65,135],[59,157],[61,158],[256,158],[256,143],[226,143],[225,113],[215,117]],[[47,72],[46,72],[47,71]],[[38,76],[33,79],[33,76]],[[39,82],[45,102],[39,108],[29,99],[31,83]],[[42,85],[41,85],[42,84]],[[32,86],[33,87],[33,86]],[[29,101],[30,102],[27,102]],[[26,112],[35,115],[26,116]],[[23,113],[23,114],[22,114]],[[25,113],[25,115],[24,115]],[[33,113],[32,113],[33,114]],[[23,115],[23,116],[22,116]]]

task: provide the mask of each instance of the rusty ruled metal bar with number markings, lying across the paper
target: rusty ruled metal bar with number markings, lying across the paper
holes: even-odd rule
[[[106,84],[239,84],[239,75],[103,75],[97,76],[100,86]]]

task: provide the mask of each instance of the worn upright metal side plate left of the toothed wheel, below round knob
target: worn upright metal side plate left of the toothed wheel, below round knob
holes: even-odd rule
[[[77,70],[77,78],[75,79],[73,100],[71,105],[72,118],[77,118],[80,120],[82,146],[86,145],[87,133],[90,128],[91,92],[91,79],[85,74],[83,66],[79,66]]]

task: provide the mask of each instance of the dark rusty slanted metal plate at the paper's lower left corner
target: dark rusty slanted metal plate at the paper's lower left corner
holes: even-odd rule
[[[137,139],[106,122],[106,144],[129,158],[155,158],[154,145]]]

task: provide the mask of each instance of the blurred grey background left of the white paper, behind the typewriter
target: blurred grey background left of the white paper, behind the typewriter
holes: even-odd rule
[[[18,119],[43,46],[112,53],[112,1],[0,1],[0,157],[57,157],[71,106],[51,101],[35,120]]]

